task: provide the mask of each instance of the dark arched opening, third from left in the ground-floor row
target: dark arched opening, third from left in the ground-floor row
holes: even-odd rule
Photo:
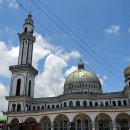
[[[40,120],[40,126],[42,130],[51,130],[51,121],[48,116],[44,116]]]

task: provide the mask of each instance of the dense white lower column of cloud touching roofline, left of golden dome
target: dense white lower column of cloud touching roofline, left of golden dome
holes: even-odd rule
[[[64,76],[62,70],[67,63],[60,57],[50,54],[46,58],[44,71],[36,78],[35,96],[55,96],[63,93]]]

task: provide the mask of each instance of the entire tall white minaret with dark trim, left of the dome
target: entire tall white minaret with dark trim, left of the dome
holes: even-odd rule
[[[27,102],[34,96],[35,76],[38,71],[32,66],[32,53],[35,36],[33,36],[33,19],[28,14],[23,24],[23,32],[18,34],[20,41],[18,65],[9,67],[12,73],[10,93],[6,99],[9,101],[8,111],[23,111]]]

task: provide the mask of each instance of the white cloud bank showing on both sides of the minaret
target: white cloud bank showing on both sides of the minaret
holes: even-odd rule
[[[68,66],[72,58],[79,58],[80,54],[76,50],[66,52],[63,47],[54,46],[48,43],[45,38],[35,33],[36,42],[33,50],[33,65],[38,69],[39,75],[35,82],[35,97],[55,96],[63,93],[65,73],[63,70]],[[17,65],[19,47],[8,47],[0,41],[0,76],[10,78],[8,67]],[[43,62],[43,63],[41,63]],[[68,73],[68,72],[66,72]],[[0,86],[1,87],[1,86]]]

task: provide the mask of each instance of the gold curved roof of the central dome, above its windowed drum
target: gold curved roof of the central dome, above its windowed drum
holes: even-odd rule
[[[78,69],[72,72],[65,80],[65,86],[74,83],[97,83],[101,84],[96,74],[89,70]]]

